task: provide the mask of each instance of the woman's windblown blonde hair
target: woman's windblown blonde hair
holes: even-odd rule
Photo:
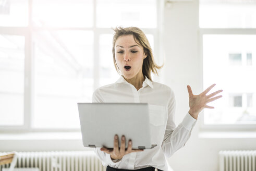
[[[112,47],[112,54],[113,54],[113,60],[115,64],[115,68],[119,74],[121,74],[120,69],[117,66],[116,59],[115,59],[115,44],[116,40],[119,38],[119,36],[122,35],[133,35],[133,38],[135,42],[143,47],[145,55],[147,55],[146,58],[143,60],[143,65],[142,65],[142,74],[143,76],[147,76],[151,81],[151,71],[158,75],[157,69],[161,69],[163,67],[159,66],[155,63],[154,61],[154,56],[152,53],[152,48],[149,44],[149,41],[145,34],[143,33],[142,30],[140,30],[137,27],[117,27],[113,29],[115,31],[114,36],[113,36],[113,47]]]

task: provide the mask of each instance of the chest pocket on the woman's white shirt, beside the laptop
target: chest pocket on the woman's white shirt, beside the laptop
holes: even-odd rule
[[[149,105],[149,121],[154,126],[164,125],[164,106]]]

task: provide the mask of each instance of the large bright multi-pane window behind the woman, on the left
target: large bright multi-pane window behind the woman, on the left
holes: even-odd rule
[[[77,103],[119,78],[111,28],[141,28],[158,60],[158,3],[0,1],[0,129],[79,130]]]

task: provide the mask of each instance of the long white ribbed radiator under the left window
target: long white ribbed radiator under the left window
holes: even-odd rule
[[[38,167],[40,171],[106,170],[93,151],[17,152],[17,156],[15,168]],[[9,164],[2,165],[0,171],[8,167]]]

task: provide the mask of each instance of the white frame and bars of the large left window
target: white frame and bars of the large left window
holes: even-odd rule
[[[99,87],[100,84],[100,65],[99,65],[99,47],[100,47],[100,35],[101,34],[113,34],[113,31],[110,28],[97,28],[96,27],[96,0],[93,0],[93,26],[87,28],[69,28],[69,27],[40,27],[36,28],[32,26],[32,1],[28,0],[28,26],[27,27],[0,27],[1,34],[8,35],[23,35],[25,36],[25,71],[24,71],[24,113],[23,113],[23,125],[22,126],[2,126],[0,125],[0,133],[9,132],[70,132],[70,131],[80,131],[78,128],[32,128],[32,118],[34,114],[34,99],[35,99],[35,80],[34,80],[34,66],[35,59],[33,56],[33,38],[32,35],[36,31],[44,30],[90,30],[94,32],[93,38],[93,90]],[[156,15],[157,15],[157,26],[152,29],[143,29],[145,34],[152,34],[154,37],[154,54],[157,62],[163,62],[163,44],[162,44],[162,27],[163,27],[163,14],[162,10],[164,7],[164,2],[155,1],[156,3]],[[159,81],[160,77],[154,77],[156,81]]]

